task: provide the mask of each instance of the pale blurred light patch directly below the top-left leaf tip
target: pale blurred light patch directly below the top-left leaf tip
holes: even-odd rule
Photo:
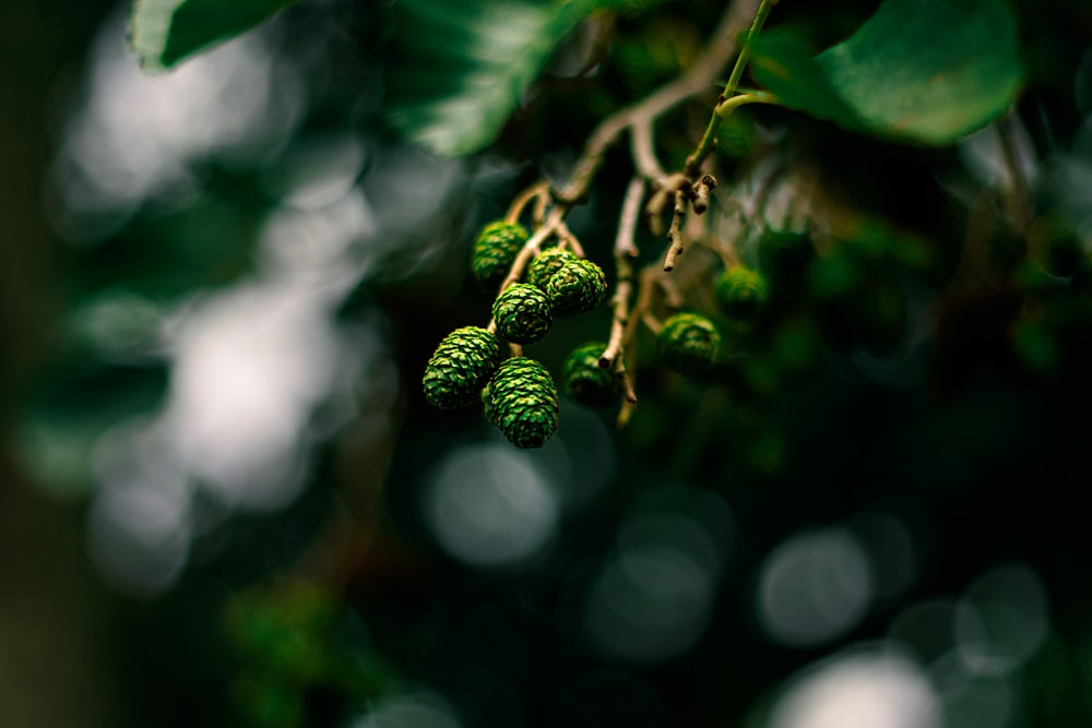
[[[117,12],[95,40],[86,100],[54,169],[52,220],[74,243],[98,242],[150,198],[194,187],[194,162],[254,162],[280,151],[305,106],[292,63],[249,33],[152,77],[129,57]],[[192,195],[190,195],[192,196]]]

